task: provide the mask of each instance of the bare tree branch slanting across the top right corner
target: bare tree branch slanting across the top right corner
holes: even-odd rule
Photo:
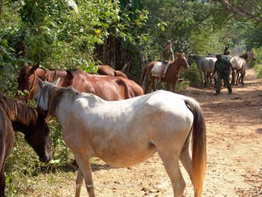
[[[262,21],[262,17],[251,14],[250,12],[245,10],[243,7],[239,6],[239,8],[237,8],[233,6],[232,4],[230,4],[227,0],[212,0],[212,1],[220,3],[226,10],[233,12],[235,15],[239,15],[241,17],[245,17],[248,19],[254,19],[258,22]]]

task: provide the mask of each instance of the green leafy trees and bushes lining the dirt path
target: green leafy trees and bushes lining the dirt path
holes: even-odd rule
[[[211,1],[0,2],[0,93],[9,97],[17,94],[17,76],[24,62],[87,72],[108,64],[139,82],[143,66],[160,60],[159,53],[168,39],[173,41],[175,53],[183,51],[186,56],[223,53],[225,46],[230,46],[233,55],[252,50],[257,59],[249,66],[262,77],[260,1],[248,6],[243,1],[232,4],[243,6],[257,18],[237,15],[223,3]],[[179,93],[188,86],[198,86],[196,64],[188,71],[181,69],[181,78]],[[33,101],[30,104],[35,105]],[[61,127],[55,120],[49,125],[53,159],[48,164],[39,162],[23,135],[16,133],[6,163],[7,196],[38,196],[45,187],[52,196],[57,189],[55,182],[74,180],[74,157],[61,139]]]

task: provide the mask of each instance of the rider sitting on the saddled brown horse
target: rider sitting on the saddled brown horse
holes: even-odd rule
[[[174,52],[172,50],[172,41],[168,40],[166,42],[166,47],[163,49],[161,53],[161,58],[162,58],[162,66],[161,66],[161,71],[159,75],[159,82],[161,82],[163,71],[165,71],[165,66],[167,64],[170,64],[171,62],[174,62]]]

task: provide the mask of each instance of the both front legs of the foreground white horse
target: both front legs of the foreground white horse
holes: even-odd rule
[[[81,184],[83,182],[83,178],[85,179],[85,186],[88,190],[88,196],[94,197],[94,183],[92,180],[92,171],[90,166],[90,158],[85,154],[74,153],[74,157],[77,160],[77,164],[79,165],[79,172],[77,174],[77,184]],[[80,173],[80,174],[79,174]],[[83,176],[82,176],[83,175]],[[77,185],[79,187],[79,185]],[[76,192],[76,197],[80,196],[80,188]],[[77,196],[79,195],[79,196]]]

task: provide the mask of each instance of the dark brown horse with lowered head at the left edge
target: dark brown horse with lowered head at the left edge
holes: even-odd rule
[[[21,131],[26,142],[38,154],[41,162],[51,159],[50,130],[45,121],[46,115],[39,109],[0,95],[0,196],[4,196],[6,178],[4,168],[14,144],[14,131]]]

